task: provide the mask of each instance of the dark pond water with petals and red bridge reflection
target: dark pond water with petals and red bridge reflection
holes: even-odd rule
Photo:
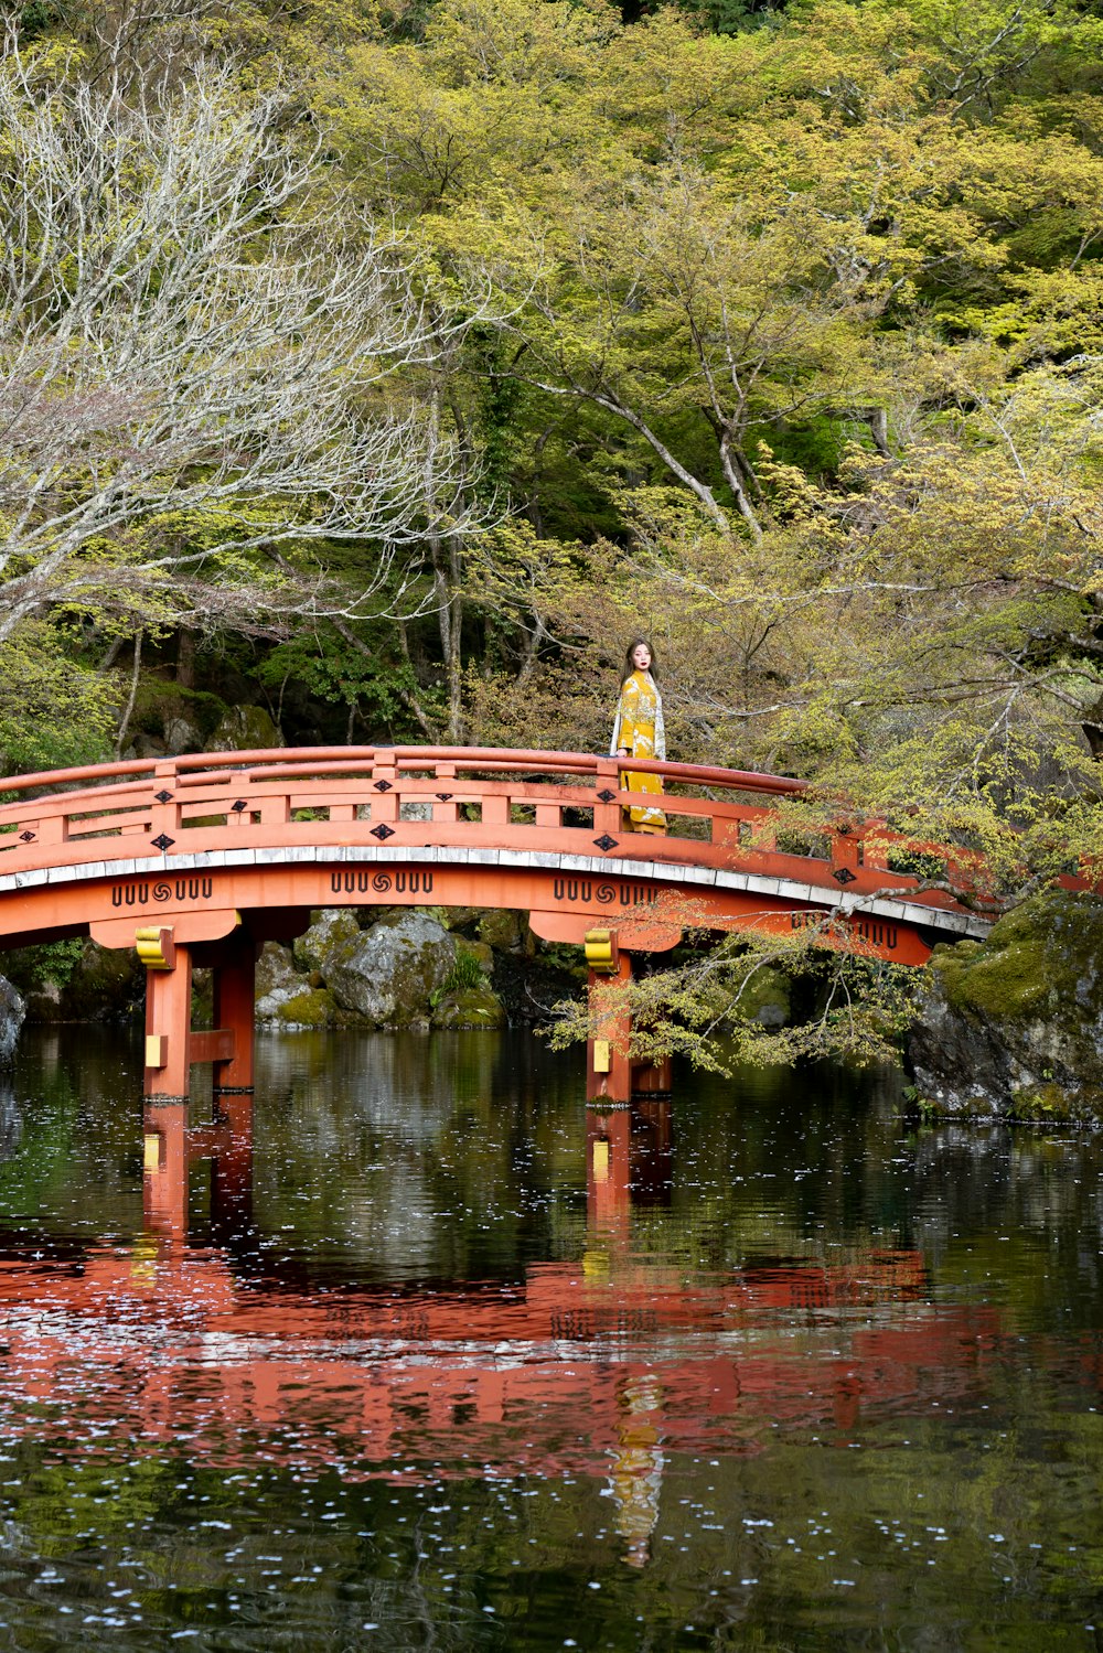
[[[496,1035],[139,1089],[0,1098],[0,1650],[1103,1646],[1098,1141]]]

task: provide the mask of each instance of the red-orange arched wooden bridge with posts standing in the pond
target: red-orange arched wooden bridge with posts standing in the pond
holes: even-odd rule
[[[537,936],[590,946],[599,975],[665,950],[686,926],[785,931],[833,917],[830,942],[923,964],[989,922],[924,888],[908,843],[842,815],[779,831],[779,775],[645,764],[663,775],[666,836],[623,830],[627,764],[580,752],[311,747],[101,764],[3,780],[0,947],[91,934],[149,969],[146,1093],[253,1083],[256,949],[334,906],[526,911]],[[653,800],[652,800],[653,802]],[[914,846],[911,846],[914,848]],[[967,881],[961,878],[962,894]],[[215,972],[215,1028],[190,1028],[192,965]],[[612,1041],[615,1043],[615,1041]],[[592,1041],[590,1094],[625,1099],[627,1056]]]

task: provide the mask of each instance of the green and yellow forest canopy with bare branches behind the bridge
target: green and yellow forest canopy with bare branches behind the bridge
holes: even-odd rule
[[[1098,853],[1088,5],[40,0],[0,79],[8,770],[595,749],[645,631],[681,759]]]

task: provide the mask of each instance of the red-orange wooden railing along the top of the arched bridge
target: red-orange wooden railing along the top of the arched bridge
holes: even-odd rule
[[[625,812],[655,797],[623,775],[663,777],[666,836],[633,833]],[[810,841],[779,833],[777,805],[809,784],[784,775],[643,762],[585,752],[483,747],[308,747],[189,754],[7,777],[0,874],[91,868],[119,858],[286,845],[430,845],[638,858],[747,869],[819,883],[916,891],[896,853],[928,853],[883,823],[843,818]],[[944,868],[962,891],[976,876]],[[946,891],[924,893],[936,906]]]

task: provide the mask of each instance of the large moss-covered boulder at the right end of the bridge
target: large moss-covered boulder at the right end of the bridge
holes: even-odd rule
[[[984,942],[934,949],[908,1043],[934,1112],[1103,1119],[1103,901],[1024,901]]]

